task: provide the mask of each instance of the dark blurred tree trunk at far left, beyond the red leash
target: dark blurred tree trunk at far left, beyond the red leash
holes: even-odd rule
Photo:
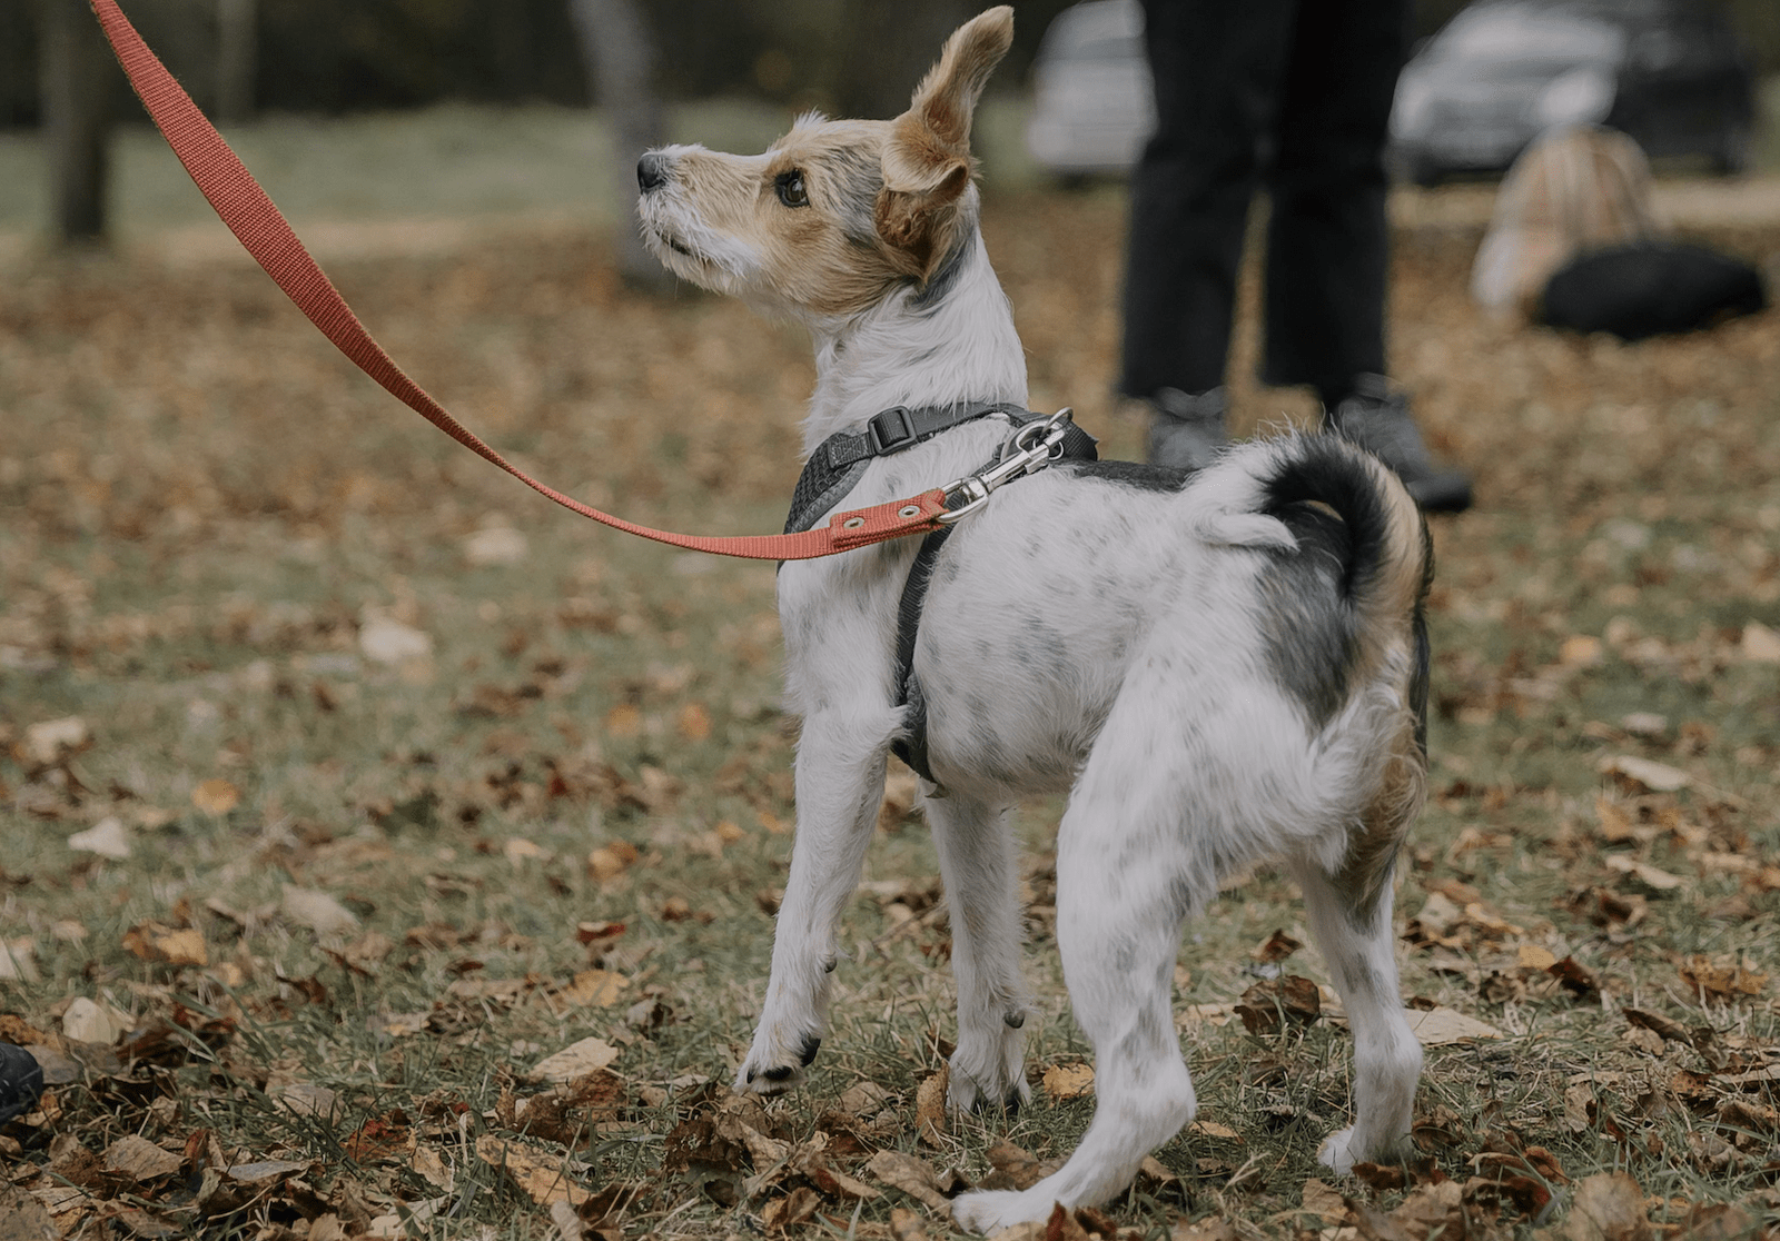
[[[62,245],[101,242],[117,66],[84,0],[39,0],[37,11],[50,231]]]

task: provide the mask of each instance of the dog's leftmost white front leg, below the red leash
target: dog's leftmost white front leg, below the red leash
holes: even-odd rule
[[[901,713],[812,715],[797,743],[797,836],[773,932],[773,974],[737,1090],[778,1093],[803,1081],[828,1029],[835,930],[860,884],[883,802],[885,756]]]

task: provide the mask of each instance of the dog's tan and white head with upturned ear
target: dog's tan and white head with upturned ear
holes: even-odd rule
[[[694,284],[796,316],[926,284],[975,226],[970,119],[1011,41],[1007,5],[961,25],[894,121],[805,116],[764,155],[650,151],[644,242]]]

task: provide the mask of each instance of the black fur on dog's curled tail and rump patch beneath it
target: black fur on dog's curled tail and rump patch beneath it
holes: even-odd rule
[[[1381,569],[1390,510],[1340,444],[1301,443],[1303,452],[1267,480],[1266,512],[1285,523],[1298,551],[1278,553],[1262,574],[1260,628],[1273,674],[1321,729],[1353,692],[1362,624],[1355,596]]]

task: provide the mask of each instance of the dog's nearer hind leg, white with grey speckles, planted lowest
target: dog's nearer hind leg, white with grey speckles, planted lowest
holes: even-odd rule
[[[1157,754],[1168,738],[1137,738],[1116,722],[1118,709],[1057,832],[1057,948],[1075,1021],[1095,1047],[1095,1118],[1070,1161],[1031,1189],[959,1197],[952,1214],[979,1232],[1045,1220],[1057,1202],[1105,1202],[1194,1113],[1171,983],[1180,921],[1216,891],[1216,877],[1191,875],[1185,797],[1169,777],[1182,756]]]

